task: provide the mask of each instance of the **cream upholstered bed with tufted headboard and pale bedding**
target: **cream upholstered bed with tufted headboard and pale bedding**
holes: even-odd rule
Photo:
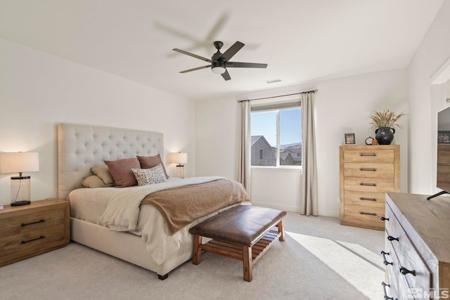
[[[165,183],[130,188],[83,188],[81,185],[84,178],[92,176],[91,168],[104,164],[105,160],[127,159],[136,155],[162,156],[163,153],[162,133],[58,124],[58,198],[71,202],[71,240],[151,270],[157,273],[161,280],[167,278],[171,270],[191,259],[193,236],[188,234],[188,228],[238,204],[250,204],[246,194],[240,195],[243,202],[227,204],[207,216],[195,219],[170,237],[166,236],[168,229],[162,214],[151,204],[137,204],[139,217],[134,218],[137,227],[117,231],[111,230],[113,226],[105,226],[105,221],[101,218],[108,215],[111,203],[122,203],[123,199],[128,199],[130,193],[146,195],[148,190],[150,193],[160,190],[165,192],[167,187],[161,186],[166,184],[169,188],[183,188],[189,184],[207,184],[221,179],[169,178]],[[101,221],[98,221],[99,219]],[[165,233],[158,226],[165,226]]]

